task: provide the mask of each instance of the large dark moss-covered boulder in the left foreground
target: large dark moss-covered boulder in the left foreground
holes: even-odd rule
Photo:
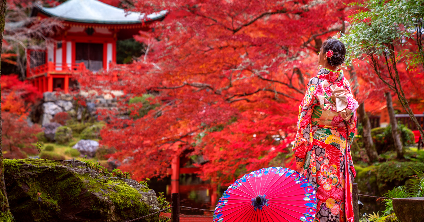
[[[117,222],[159,210],[155,191],[135,180],[102,176],[78,160],[5,159],[4,165],[17,222]]]

